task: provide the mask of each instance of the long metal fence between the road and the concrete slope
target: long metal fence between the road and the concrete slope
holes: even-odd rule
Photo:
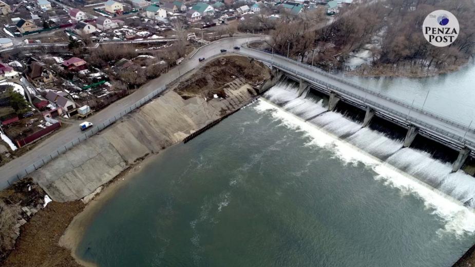
[[[172,81],[172,82],[174,82],[174,81]],[[149,93],[144,98],[137,101],[134,105],[131,105],[131,106],[125,108],[124,110],[120,111],[118,115],[116,115],[114,117],[111,117],[111,118],[103,121],[102,123],[99,123],[99,124],[95,125],[90,130],[85,131],[84,134],[81,135],[80,137],[71,140],[70,142],[64,144],[61,147],[58,147],[50,155],[44,156],[43,158],[37,160],[35,163],[27,166],[24,170],[20,171],[20,173],[17,173],[16,175],[10,177],[6,182],[5,182],[5,180],[0,181],[0,189],[4,189],[4,188],[8,187],[11,183],[22,179],[23,177],[25,177],[28,174],[32,173],[34,170],[42,167],[43,165],[45,165],[48,162],[52,161],[53,159],[57,158],[58,156],[60,156],[64,152],[66,152],[69,149],[73,148],[75,145],[78,145],[81,142],[86,141],[86,139],[92,137],[93,135],[95,135],[99,131],[103,130],[107,126],[109,126],[112,123],[116,122],[117,120],[121,119],[122,117],[124,117],[125,115],[130,113],[132,110],[137,109],[138,107],[140,107],[143,104],[147,103],[150,99],[155,98],[156,96],[158,96],[158,94],[163,92],[166,88],[167,88],[167,85],[156,89],[155,91]]]

